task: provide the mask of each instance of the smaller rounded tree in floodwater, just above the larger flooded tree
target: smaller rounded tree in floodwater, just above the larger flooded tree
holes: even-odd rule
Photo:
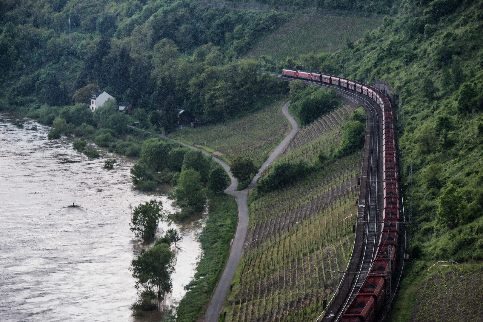
[[[129,223],[130,230],[134,232],[136,237],[141,237],[144,240],[154,238],[157,224],[162,217],[162,209],[162,202],[154,199],[134,207]]]

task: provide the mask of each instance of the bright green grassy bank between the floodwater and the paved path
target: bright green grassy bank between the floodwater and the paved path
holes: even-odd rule
[[[228,195],[211,197],[209,211],[206,226],[199,235],[203,257],[193,280],[185,287],[188,292],[177,308],[176,321],[196,321],[204,314],[205,305],[228,259],[230,240],[237,228],[237,202]]]

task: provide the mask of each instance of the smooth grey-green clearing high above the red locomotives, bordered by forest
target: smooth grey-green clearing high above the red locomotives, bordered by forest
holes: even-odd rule
[[[298,14],[284,27],[262,38],[246,56],[256,59],[265,54],[280,60],[310,52],[333,53],[344,46],[345,37],[355,40],[381,24],[379,19]]]

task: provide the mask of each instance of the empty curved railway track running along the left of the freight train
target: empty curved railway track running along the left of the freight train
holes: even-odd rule
[[[293,79],[277,76],[283,81],[292,81]],[[333,86],[321,83],[315,83],[302,80],[304,84],[332,88]],[[380,119],[382,113],[380,108],[363,95],[356,92],[337,88],[337,92],[345,99],[351,100],[356,104],[363,106],[368,115],[366,140],[364,146],[364,156],[362,163],[362,175],[360,182],[360,193],[357,209],[356,237],[353,252],[346,272],[341,279],[341,283],[332,297],[327,303],[327,308],[323,310],[316,322],[337,322],[341,319],[342,314],[348,308],[352,300],[357,295],[358,290],[368,276],[369,268],[376,253],[377,241],[380,233],[378,221],[380,214],[379,209],[382,205],[382,197],[379,193],[380,178],[382,169],[382,155],[379,149],[381,145],[382,124]],[[393,296],[394,297],[394,296]]]

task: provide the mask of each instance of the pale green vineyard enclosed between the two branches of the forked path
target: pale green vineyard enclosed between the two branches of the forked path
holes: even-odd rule
[[[279,141],[290,131],[281,112],[283,96],[272,96],[268,105],[256,112],[223,124],[190,128],[185,127],[170,135],[192,146],[198,146],[229,162],[239,154],[261,165]]]

